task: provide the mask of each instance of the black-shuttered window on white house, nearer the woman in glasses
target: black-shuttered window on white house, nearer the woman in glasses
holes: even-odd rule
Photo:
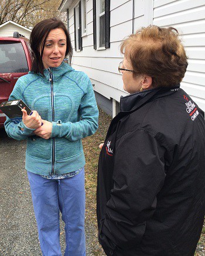
[[[110,48],[110,0],[93,0],[94,49]]]

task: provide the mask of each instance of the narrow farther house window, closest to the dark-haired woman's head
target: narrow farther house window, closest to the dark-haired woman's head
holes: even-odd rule
[[[76,52],[83,50],[81,33],[81,1],[74,8],[74,37]]]

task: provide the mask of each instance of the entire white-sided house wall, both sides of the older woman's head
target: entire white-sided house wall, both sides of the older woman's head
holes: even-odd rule
[[[83,50],[74,50],[74,6],[69,8],[69,31],[73,45],[74,69],[84,71],[91,78],[94,90],[108,100],[119,102],[128,95],[122,88],[118,64],[122,61],[120,44],[132,33],[132,0],[111,0],[110,49],[93,49],[93,0],[87,1],[87,35],[83,37]],[[182,40],[189,56],[189,66],[182,88],[205,110],[205,4],[204,0],[135,0],[134,32],[142,26],[155,24],[174,26],[182,32]],[[99,97],[98,97],[99,98]],[[101,101],[102,101],[101,99]],[[106,103],[106,101],[105,101]]]

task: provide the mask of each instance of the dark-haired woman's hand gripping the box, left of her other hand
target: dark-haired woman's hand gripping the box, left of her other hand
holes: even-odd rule
[[[24,109],[21,111],[23,112],[22,121],[23,121],[23,124],[26,125],[26,127],[30,129],[37,129],[41,126],[42,119],[37,111],[33,110],[32,115],[28,115],[26,110]]]

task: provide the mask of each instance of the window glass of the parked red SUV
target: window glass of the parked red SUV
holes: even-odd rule
[[[0,73],[26,73],[28,71],[22,43],[0,42]]]

